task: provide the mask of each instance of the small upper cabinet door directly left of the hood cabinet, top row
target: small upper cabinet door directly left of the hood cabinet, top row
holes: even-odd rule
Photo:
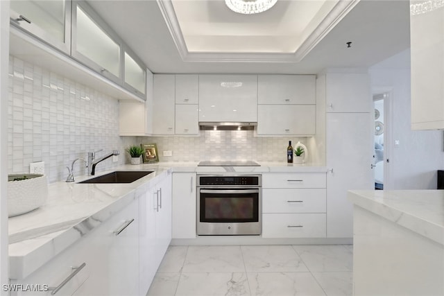
[[[193,74],[176,75],[176,104],[199,103],[199,76]]]

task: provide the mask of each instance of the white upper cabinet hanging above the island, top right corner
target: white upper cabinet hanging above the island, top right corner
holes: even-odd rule
[[[411,5],[423,6],[424,1]],[[416,11],[416,10],[413,10]],[[410,15],[411,128],[444,129],[444,6]]]

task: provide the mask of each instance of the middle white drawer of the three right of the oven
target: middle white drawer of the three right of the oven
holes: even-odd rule
[[[262,189],[262,213],[325,213],[327,189]]]

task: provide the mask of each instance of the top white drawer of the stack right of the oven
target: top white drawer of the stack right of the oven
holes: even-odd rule
[[[262,188],[326,188],[325,173],[263,173]]]

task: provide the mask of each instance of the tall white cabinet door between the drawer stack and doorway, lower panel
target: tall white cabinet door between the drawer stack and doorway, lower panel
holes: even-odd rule
[[[372,190],[373,135],[370,113],[327,113],[327,237],[353,237],[348,190]],[[338,135],[341,135],[338,137]]]

